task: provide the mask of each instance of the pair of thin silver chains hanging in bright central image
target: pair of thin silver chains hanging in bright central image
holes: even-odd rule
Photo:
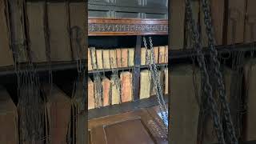
[[[153,79],[154,90],[156,92],[156,95],[158,98],[158,104],[160,106],[160,114],[162,116],[162,122],[165,123],[166,118],[168,118],[168,114],[167,114],[167,109],[166,109],[166,102],[163,98],[162,88],[161,88],[159,78],[158,78],[158,69],[157,69],[157,66],[154,61],[154,47],[152,44],[152,39],[150,37],[150,53],[148,52],[148,49],[147,49],[145,37],[143,37],[143,42],[144,42],[144,46],[146,48],[146,62],[150,68],[150,75],[151,75],[151,78]],[[167,126],[164,125],[164,128],[165,128],[166,134],[167,134],[168,133]]]

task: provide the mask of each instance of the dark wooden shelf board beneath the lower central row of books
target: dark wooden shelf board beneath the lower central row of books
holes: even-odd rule
[[[168,102],[168,97],[168,95],[164,96],[166,103]],[[118,105],[103,106],[101,108],[88,110],[88,119],[104,117],[107,115],[121,114],[153,106],[158,106],[158,100],[156,96],[151,96],[150,98],[145,99],[138,99],[134,102],[124,102]]]

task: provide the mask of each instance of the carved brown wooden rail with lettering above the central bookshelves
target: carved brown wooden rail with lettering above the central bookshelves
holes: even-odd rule
[[[166,35],[166,19],[89,18],[89,36]]]

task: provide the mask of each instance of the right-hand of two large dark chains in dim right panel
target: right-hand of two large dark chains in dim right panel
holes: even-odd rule
[[[230,142],[238,144],[238,139],[235,135],[235,130],[230,114],[230,106],[226,100],[226,90],[223,82],[222,73],[220,72],[220,62],[218,61],[218,51],[215,49],[214,40],[214,28],[212,26],[210,4],[208,0],[202,0],[202,10],[204,15],[204,22],[206,25],[206,34],[208,37],[208,45],[210,48],[210,58],[213,62],[214,76],[217,78],[218,93],[220,97],[220,102],[222,104],[224,119],[226,122],[226,127],[228,135],[230,137]]]

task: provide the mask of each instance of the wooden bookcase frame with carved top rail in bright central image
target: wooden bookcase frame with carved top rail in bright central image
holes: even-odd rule
[[[111,114],[123,113],[130,110],[137,110],[143,107],[158,105],[155,96],[146,99],[139,99],[139,85],[141,69],[147,66],[141,65],[141,47],[142,36],[164,36],[168,34],[168,21],[166,19],[140,19],[140,18],[89,18],[88,19],[88,35],[91,38],[103,37],[123,37],[134,36],[136,42],[134,46],[134,66],[117,68],[115,70],[134,69],[134,100],[132,102],[124,102],[114,106],[103,106],[89,110],[88,118],[98,118]],[[90,38],[89,38],[90,44]],[[166,45],[168,44],[166,38]],[[167,64],[158,64],[158,66],[166,66]],[[89,74],[95,72],[106,72],[111,70],[90,70]],[[165,96],[168,102],[167,96]]]

